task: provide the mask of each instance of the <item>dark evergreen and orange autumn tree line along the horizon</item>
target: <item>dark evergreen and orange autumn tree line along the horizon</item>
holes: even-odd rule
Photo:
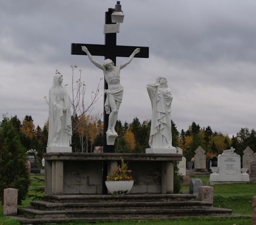
[[[46,152],[48,139],[48,121],[41,128],[35,127],[31,116],[26,115],[21,121],[17,116],[3,117],[3,121],[9,121],[19,134],[20,142],[26,148],[35,149],[38,157],[43,158]],[[103,146],[103,122],[101,115],[83,114],[81,117],[72,117],[76,122],[73,129],[72,150],[73,152],[93,152],[95,146]],[[115,152],[119,153],[144,153],[145,148],[150,148],[148,139],[150,135],[151,120],[140,120],[135,117],[131,123],[120,120],[116,122],[118,137],[115,142]],[[229,137],[228,134],[212,131],[212,128],[201,127],[192,122],[187,130],[178,131],[175,122],[172,121],[172,145],[183,149],[183,155],[187,160],[194,157],[195,150],[201,145],[206,151],[207,158],[221,154],[231,146],[236,148],[236,153],[242,156],[244,149],[249,146],[256,149],[256,131],[241,128],[240,131]]]

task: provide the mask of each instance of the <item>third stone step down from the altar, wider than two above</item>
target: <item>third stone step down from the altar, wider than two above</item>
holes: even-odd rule
[[[157,217],[169,218],[172,216],[212,216],[231,214],[231,209],[223,208],[190,208],[190,209],[107,209],[107,210],[62,210],[62,211],[42,211],[31,208],[24,208],[21,213],[29,218],[112,218],[137,219]]]

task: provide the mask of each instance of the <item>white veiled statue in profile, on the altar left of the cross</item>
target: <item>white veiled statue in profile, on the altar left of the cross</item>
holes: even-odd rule
[[[71,107],[63,77],[55,74],[49,90],[49,134],[47,152],[71,152]]]

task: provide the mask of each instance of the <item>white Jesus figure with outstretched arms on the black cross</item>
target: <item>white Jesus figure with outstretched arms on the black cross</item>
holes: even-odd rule
[[[106,133],[107,135],[117,137],[115,125],[117,121],[118,110],[122,102],[124,89],[120,84],[120,70],[131,63],[131,60],[134,58],[135,54],[140,52],[140,48],[136,48],[128,60],[119,66],[114,66],[113,61],[110,59],[106,59],[103,64],[100,64],[93,59],[92,55],[85,46],[82,46],[81,48],[82,51],[87,54],[90,61],[95,66],[102,69],[105,80],[108,83],[108,89],[104,90],[105,94],[107,94],[105,101],[105,111],[107,114],[110,114],[108,119],[108,130]]]

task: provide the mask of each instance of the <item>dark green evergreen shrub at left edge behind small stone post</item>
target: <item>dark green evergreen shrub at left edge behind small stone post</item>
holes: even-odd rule
[[[0,200],[3,189],[18,189],[18,204],[26,198],[29,188],[27,155],[12,121],[4,118],[0,124]]]

